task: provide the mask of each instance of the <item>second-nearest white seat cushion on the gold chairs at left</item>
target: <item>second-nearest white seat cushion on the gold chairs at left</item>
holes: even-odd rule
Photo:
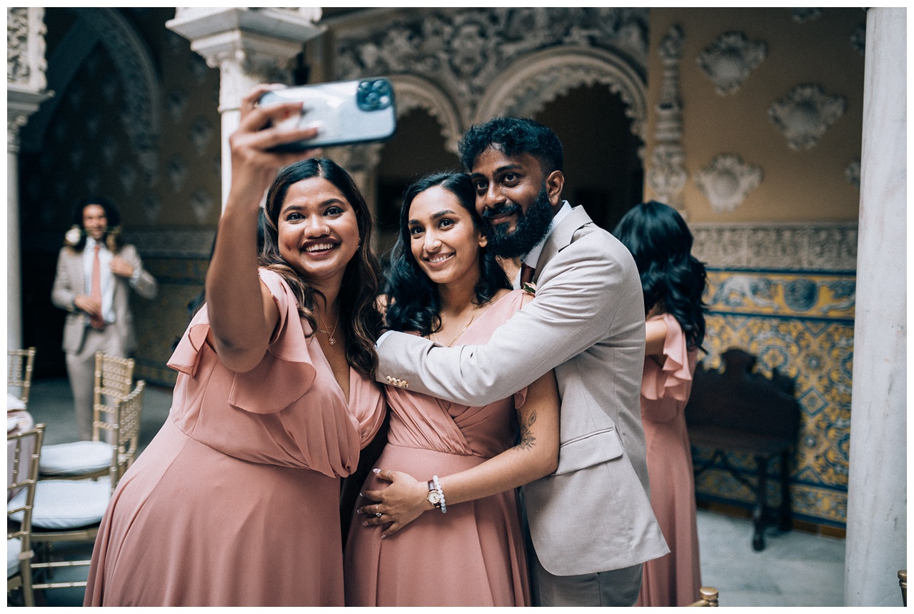
[[[35,487],[35,506],[32,508],[32,526],[62,531],[101,522],[111,498],[107,482],[91,480],[39,480]],[[19,492],[7,509],[21,507],[26,502],[26,492]],[[9,517],[22,521],[22,512]]]

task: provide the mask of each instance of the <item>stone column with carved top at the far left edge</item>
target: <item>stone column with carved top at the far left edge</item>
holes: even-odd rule
[[[22,347],[19,255],[19,130],[46,91],[45,9],[6,8],[6,347]]]

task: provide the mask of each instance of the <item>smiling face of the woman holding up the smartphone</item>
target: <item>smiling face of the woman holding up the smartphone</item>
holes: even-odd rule
[[[280,209],[282,259],[317,287],[338,286],[359,244],[356,211],[323,177],[289,186]]]

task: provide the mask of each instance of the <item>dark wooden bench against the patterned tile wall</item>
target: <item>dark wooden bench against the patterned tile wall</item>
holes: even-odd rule
[[[771,378],[752,373],[756,358],[731,348],[721,355],[723,373],[699,365],[692,396],[685,406],[689,439],[696,448],[713,450],[710,460],[695,468],[697,476],[715,466],[727,470],[755,495],[752,510],[752,547],[765,547],[765,527],[777,522],[791,529],[790,465],[800,429],[800,406],[793,382],[777,370]],[[734,467],[728,454],[752,456],[758,464],[756,483]],[[781,459],[781,505],[777,513],[768,504],[768,467]]]

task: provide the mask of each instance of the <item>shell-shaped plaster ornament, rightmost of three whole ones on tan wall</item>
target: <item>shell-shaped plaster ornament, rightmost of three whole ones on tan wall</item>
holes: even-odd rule
[[[810,149],[844,114],[846,105],[843,96],[826,96],[818,85],[799,85],[773,102],[768,116],[787,137],[791,149]]]

